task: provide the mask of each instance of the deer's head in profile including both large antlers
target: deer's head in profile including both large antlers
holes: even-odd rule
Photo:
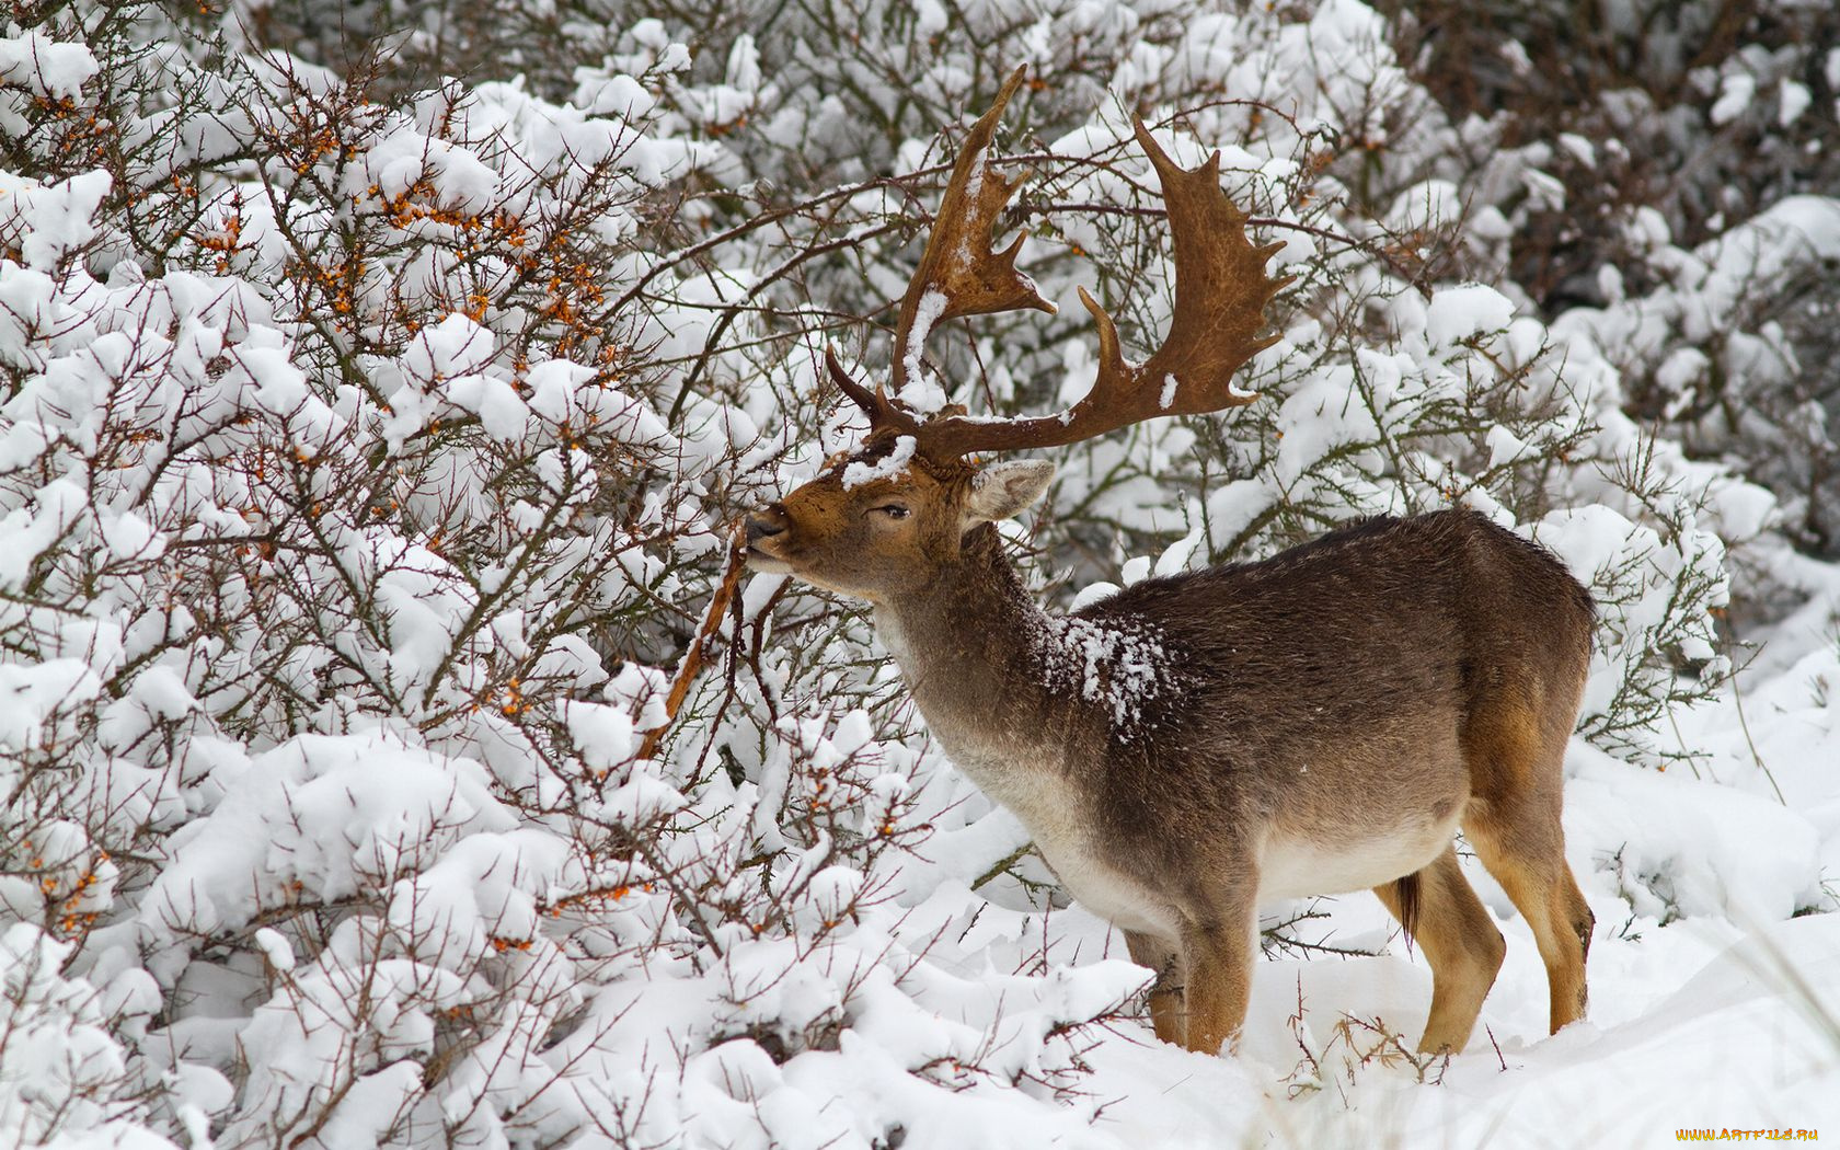
[[[891,602],[927,583],[960,548],[966,532],[1030,506],[1054,477],[1041,460],[975,466],[975,453],[1062,447],[1159,416],[1196,416],[1257,399],[1233,385],[1253,355],[1277,340],[1259,337],[1264,305],[1290,280],[1271,280],[1266,261],[1282,247],[1253,247],[1246,215],[1220,190],[1220,155],[1192,171],[1178,167],[1143,121],[1139,145],[1163,186],[1176,254],[1176,313],[1163,346],[1130,362],[1111,316],[1080,289],[1098,326],[1098,377],[1064,412],[986,420],[922,416],[902,386],[922,372],[927,335],[946,320],[997,311],[1054,313],[1029,276],[1016,270],[1023,239],[992,248],[992,230],[1016,186],[988,164],[1005,105],[1021,85],[1018,68],[972,127],[940,201],[933,232],[894,329],[887,386],[856,383],[832,351],[824,364],[845,396],[868,416],[854,453],[826,462],[811,482],[747,519],[749,559],[870,602]]]

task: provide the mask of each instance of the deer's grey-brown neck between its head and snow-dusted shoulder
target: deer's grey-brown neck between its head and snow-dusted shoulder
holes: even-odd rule
[[[1014,806],[1018,784],[1065,773],[1091,747],[1093,707],[1051,673],[1045,642],[1065,620],[1029,596],[994,526],[968,532],[953,563],[920,592],[878,604],[874,620],[933,736],[999,802]]]

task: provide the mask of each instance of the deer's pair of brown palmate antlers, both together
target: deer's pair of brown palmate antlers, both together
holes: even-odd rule
[[[1005,252],[992,252],[990,247],[992,228],[1014,191],[1012,182],[990,171],[990,140],[1023,75],[1025,68],[1010,75],[964,140],[926,254],[902,296],[891,390],[918,375],[926,337],[949,318],[1023,307],[1054,311],[1029,276],[1016,270],[1021,237]],[[1200,416],[1259,397],[1233,386],[1233,374],[1277,342],[1275,335],[1260,339],[1259,328],[1264,326],[1266,304],[1290,283],[1288,276],[1271,280],[1264,272],[1266,261],[1284,245],[1255,248],[1246,239],[1246,213],[1220,190],[1220,153],[1185,171],[1157,147],[1141,120],[1135,132],[1163,184],[1176,250],[1176,315],[1163,346],[1146,362],[1126,361],[1117,326],[1082,287],[1080,302],[1098,324],[1093,390],[1064,412],[1021,420],[922,420],[889,390],[878,386],[870,392],[850,379],[835,355],[826,351],[832,379],[868,412],[870,436],[914,436],[918,454],[951,464],[977,451],[1060,447],[1157,416]]]

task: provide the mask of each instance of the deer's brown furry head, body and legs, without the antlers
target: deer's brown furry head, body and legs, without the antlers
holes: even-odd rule
[[[1373,519],[1051,616],[981,521],[1014,500],[970,471],[845,488],[843,466],[756,515],[753,554],[876,605],[953,762],[1157,972],[1159,1038],[1236,1034],[1268,885],[1354,883],[1432,964],[1422,1049],[1461,1049],[1503,944],[1455,824],[1533,927],[1551,1027],[1582,1014],[1592,918],[1558,817],[1592,604],[1546,550],[1463,510]],[[1095,650],[1130,659],[1095,677]]]

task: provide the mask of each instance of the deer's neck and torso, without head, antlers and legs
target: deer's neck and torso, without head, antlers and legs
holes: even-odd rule
[[[1076,902],[1167,960],[1185,924],[1249,940],[1260,903],[1432,867],[1466,817],[1512,806],[1529,769],[1557,799],[1592,615],[1549,556],[1443,512],[1148,580],[1062,620],[984,526],[874,618],[953,764]],[[1069,620],[1089,629],[1069,638]],[[1093,690],[1069,692],[1067,664],[1104,648],[1095,633],[1156,637],[1163,666],[1119,681],[1100,651]],[[1503,729],[1533,740],[1503,758]],[[1557,841],[1557,802],[1551,815],[1538,848]],[[1568,927],[1588,918],[1564,909]]]

